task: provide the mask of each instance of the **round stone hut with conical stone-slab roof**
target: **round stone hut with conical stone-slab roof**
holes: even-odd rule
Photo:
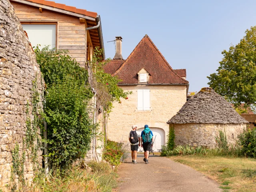
[[[225,130],[228,143],[235,144],[247,123],[229,102],[210,87],[202,88],[167,122],[170,128],[174,128],[176,145],[208,148],[216,147],[219,130]]]

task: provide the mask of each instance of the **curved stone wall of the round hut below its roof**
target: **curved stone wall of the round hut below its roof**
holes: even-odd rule
[[[219,136],[219,130],[226,132],[228,144],[236,144],[238,134],[246,129],[246,124],[170,124],[174,127],[175,144],[216,147],[215,138]],[[234,137],[234,138],[233,138]]]

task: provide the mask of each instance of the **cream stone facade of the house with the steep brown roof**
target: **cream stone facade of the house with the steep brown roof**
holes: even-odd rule
[[[122,99],[121,104],[115,102],[114,108],[108,120],[108,138],[114,141],[128,141],[128,134],[132,125],[144,128],[162,128],[165,137],[169,126],[166,122],[174,116],[186,102],[186,86],[160,86],[160,85],[138,85],[120,86],[125,92],[132,91],[128,99]],[[137,110],[137,90],[150,89],[150,110]],[[165,138],[166,141],[166,138]]]

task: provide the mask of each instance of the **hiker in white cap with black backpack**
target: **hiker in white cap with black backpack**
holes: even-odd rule
[[[137,126],[133,125],[132,130],[129,133],[129,141],[131,143],[132,150],[132,162],[136,164],[137,151],[140,146],[140,134],[137,132]]]

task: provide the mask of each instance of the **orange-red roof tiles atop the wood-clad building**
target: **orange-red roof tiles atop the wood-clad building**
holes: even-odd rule
[[[59,8],[59,9],[63,9],[63,10],[66,10],[66,11],[86,15],[86,16],[93,17],[93,18],[97,17],[96,12],[90,12],[90,11],[86,11],[85,9],[78,9],[76,7],[67,6],[65,4],[55,3],[54,1],[46,1],[46,0],[26,0],[26,1],[30,1],[30,2],[33,2],[33,3],[38,3],[38,4],[42,4],[42,5],[47,5],[47,6],[55,7],[55,8]]]

